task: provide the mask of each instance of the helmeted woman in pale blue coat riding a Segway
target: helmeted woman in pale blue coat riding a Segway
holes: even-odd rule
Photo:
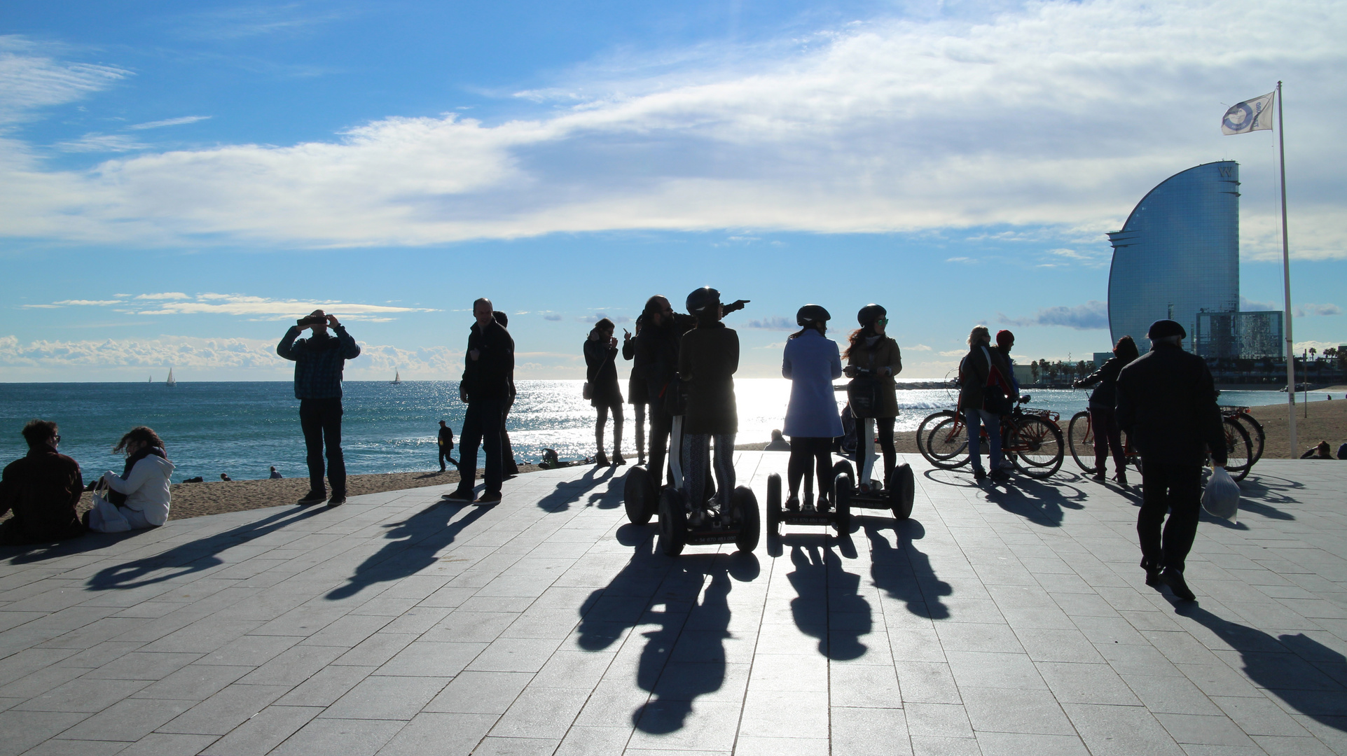
[[[838,343],[826,336],[831,317],[816,304],[801,307],[795,313],[800,331],[791,334],[781,356],[781,375],[791,379],[791,404],[781,432],[791,437],[791,463],[787,468],[791,498],[785,507],[792,511],[800,508],[800,480],[806,478],[811,461],[818,469],[819,508],[826,508],[832,439],[842,434],[842,420],[832,395],[832,381],[842,377],[842,356]],[[812,499],[810,491],[804,498],[806,502]]]

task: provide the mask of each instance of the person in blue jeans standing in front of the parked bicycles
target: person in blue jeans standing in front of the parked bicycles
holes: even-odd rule
[[[1010,476],[1001,468],[1001,416],[1010,414],[1010,394],[1014,391],[1006,378],[1009,370],[1005,356],[991,348],[991,331],[986,326],[975,326],[968,332],[968,354],[959,363],[959,406],[968,428],[968,459],[973,461],[974,480],[987,478],[982,468],[983,424],[991,447],[987,452],[991,478],[1005,480]]]

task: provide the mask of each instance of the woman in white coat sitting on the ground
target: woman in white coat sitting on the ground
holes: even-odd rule
[[[168,483],[174,464],[168,461],[164,443],[145,426],[132,428],[113,452],[127,455],[121,475],[108,471],[108,499],[89,515],[89,527],[101,533],[158,527],[168,521]]]

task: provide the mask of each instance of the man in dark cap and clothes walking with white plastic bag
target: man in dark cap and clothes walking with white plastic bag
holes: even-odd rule
[[[1207,363],[1180,346],[1187,335],[1173,320],[1150,326],[1150,351],[1118,374],[1118,425],[1141,452],[1137,535],[1146,584],[1164,582],[1192,601],[1183,570],[1197,535],[1202,467],[1208,449],[1212,464],[1224,467],[1226,434]]]

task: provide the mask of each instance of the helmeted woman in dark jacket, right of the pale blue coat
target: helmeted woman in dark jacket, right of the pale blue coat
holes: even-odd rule
[[[902,371],[902,352],[898,343],[884,334],[889,324],[888,311],[878,304],[867,304],[857,312],[859,328],[851,331],[850,344],[842,352],[846,359],[847,378],[858,375],[857,369],[869,370],[878,381],[878,391],[874,406],[874,424],[880,436],[880,449],[884,451],[884,479],[898,463],[897,451],[893,448],[893,420],[898,417],[898,394],[893,377]],[[857,432],[862,433],[863,422],[857,422]],[[873,463],[874,447],[869,439],[858,439],[857,455],[861,463],[861,478],[858,490],[865,494],[872,488],[869,472]]]

